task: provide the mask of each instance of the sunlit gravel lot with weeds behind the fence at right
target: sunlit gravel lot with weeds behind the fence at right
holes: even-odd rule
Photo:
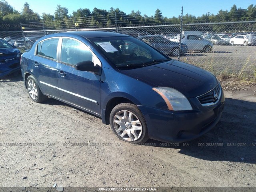
[[[177,58],[175,58],[177,59]],[[194,64],[214,74],[241,74],[250,77],[256,70],[256,46],[214,45],[212,52],[188,52],[181,61]]]

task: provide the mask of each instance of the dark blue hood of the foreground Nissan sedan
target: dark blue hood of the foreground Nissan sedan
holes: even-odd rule
[[[174,88],[187,98],[200,96],[218,84],[218,80],[212,73],[177,60],[120,70],[120,72],[146,82],[152,87]]]

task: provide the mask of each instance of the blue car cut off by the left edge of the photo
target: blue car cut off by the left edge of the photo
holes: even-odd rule
[[[20,70],[20,50],[0,39],[0,79]]]

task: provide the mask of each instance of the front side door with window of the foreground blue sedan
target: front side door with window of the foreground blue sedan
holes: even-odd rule
[[[75,69],[75,64],[87,60],[102,66],[100,60],[88,46],[73,38],[63,38],[60,51],[61,62],[57,65],[60,98],[100,114],[100,75]]]

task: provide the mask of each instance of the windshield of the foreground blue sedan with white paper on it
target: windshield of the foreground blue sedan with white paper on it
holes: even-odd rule
[[[104,37],[90,40],[117,67],[144,67],[170,60],[136,38]]]

